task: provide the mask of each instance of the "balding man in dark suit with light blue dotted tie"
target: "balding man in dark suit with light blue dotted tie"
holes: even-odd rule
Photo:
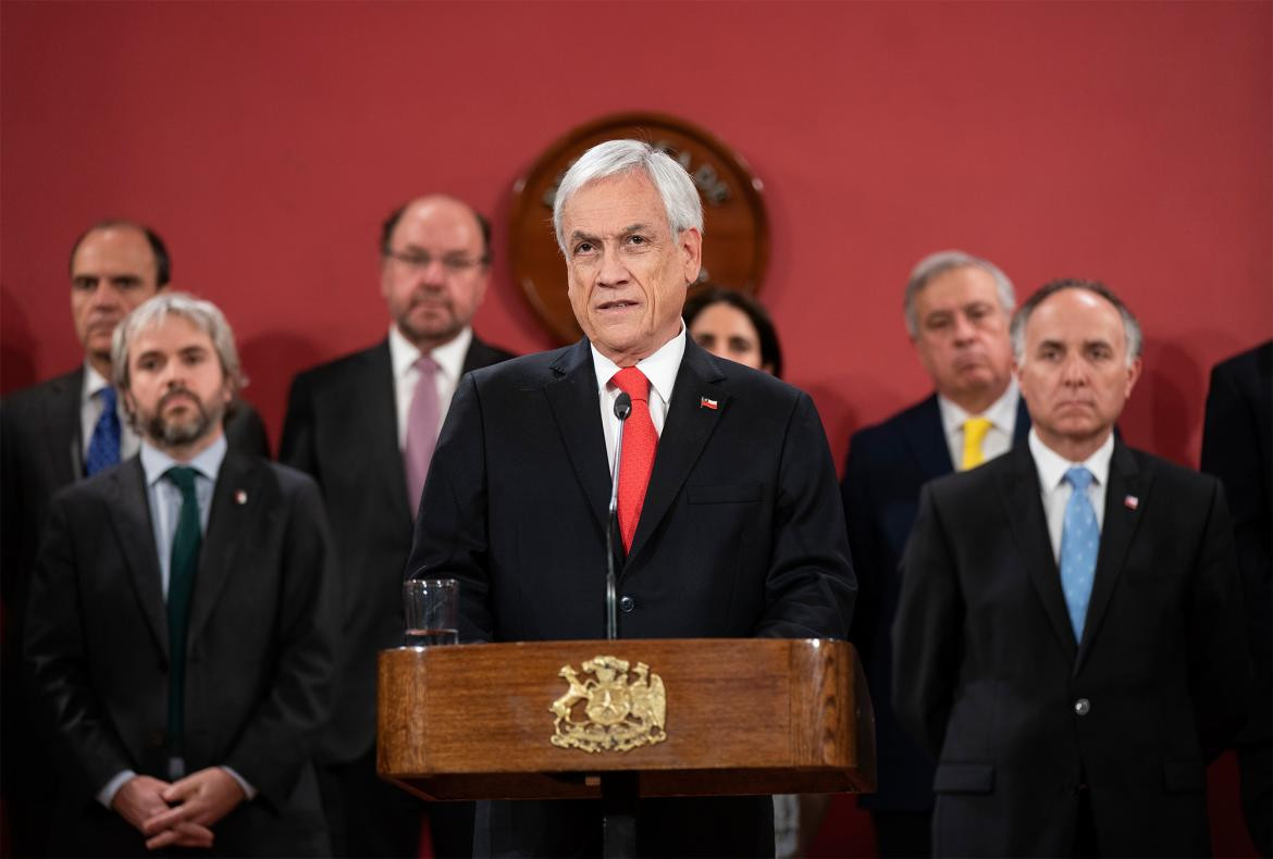
[[[1114,434],[1141,328],[1102,284],[1048,284],[1012,341],[1029,443],[928,484],[903,559],[892,701],[937,761],[933,853],[1208,855],[1249,682],[1225,494]]]

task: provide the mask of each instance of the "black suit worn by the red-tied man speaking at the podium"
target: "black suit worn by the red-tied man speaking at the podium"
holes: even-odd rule
[[[461,640],[605,638],[610,490],[587,340],[479,370],[442,430],[407,569],[460,579]],[[619,588],[622,638],[845,636],[855,585],[807,395],[686,342]],[[770,814],[768,797],[648,803],[638,849],[771,851]],[[598,825],[589,803],[495,804],[489,846],[588,851]]]

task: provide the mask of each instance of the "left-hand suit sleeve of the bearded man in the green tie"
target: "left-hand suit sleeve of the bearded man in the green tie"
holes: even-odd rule
[[[31,585],[25,657],[33,697],[95,793],[135,762],[103,713],[88,676],[80,615],[84,598],[76,574],[81,550],[93,552],[92,546],[76,545],[66,504],[55,499]]]

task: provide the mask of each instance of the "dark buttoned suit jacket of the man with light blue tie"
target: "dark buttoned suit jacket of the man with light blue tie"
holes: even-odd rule
[[[1115,442],[1082,641],[1026,445],[924,487],[901,588],[894,706],[938,762],[937,855],[1069,855],[1080,784],[1102,855],[1208,853],[1249,678],[1218,481]]]

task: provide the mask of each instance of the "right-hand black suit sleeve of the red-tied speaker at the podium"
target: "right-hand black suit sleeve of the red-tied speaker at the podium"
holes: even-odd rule
[[[783,442],[766,610],[756,635],[845,639],[855,597],[835,466],[813,401],[801,393]]]

